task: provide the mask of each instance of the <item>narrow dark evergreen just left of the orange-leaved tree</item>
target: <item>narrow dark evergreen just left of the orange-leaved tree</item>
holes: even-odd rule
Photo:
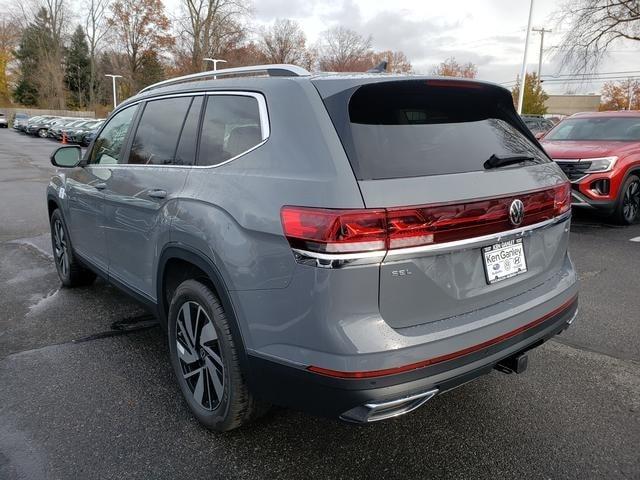
[[[89,45],[84,30],[80,25],[71,36],[67,49],[64,82],[69,90],[67,104],[71,108],[82,108],[89,100],[89,83],[91,76],[91,60]]]

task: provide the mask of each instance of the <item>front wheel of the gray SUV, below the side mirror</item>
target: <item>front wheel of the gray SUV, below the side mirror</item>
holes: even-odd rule
[[[58,209],[51,214],[51,250],[58,277],[65,287],[89,285],[96,279],[96,274],[82,265],[73,253],[67,226]]]

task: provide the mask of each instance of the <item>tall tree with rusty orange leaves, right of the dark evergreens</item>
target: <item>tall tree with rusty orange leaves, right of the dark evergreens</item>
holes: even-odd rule
[[[174,43],[162,0],[116,0],[111,5],[108,23],[114,41],[126,55],[131,89],[135,91],[148,85],[145,60],[157,59],[160,52]]]

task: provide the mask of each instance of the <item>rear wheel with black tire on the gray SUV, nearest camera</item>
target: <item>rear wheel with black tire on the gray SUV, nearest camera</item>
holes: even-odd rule
[[[205,427],[238,428],[266,413],[240,368],[239,348],[220,300],[196,280],[181,283],[169,307],[171,364],[185,401]]]

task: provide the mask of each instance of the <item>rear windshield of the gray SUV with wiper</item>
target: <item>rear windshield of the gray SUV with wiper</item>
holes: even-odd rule
[[[518,130],[522,127],[512,119],[513,107],[472,85],[431,86],[416,80],[359,87],[349,100],[348,119],[334,118],[356,177],[376,180],[481,171],[494,154],[522,154],[535,163],[548,162]],[[328,109],[333,118],[335,108],[328,105]]]

